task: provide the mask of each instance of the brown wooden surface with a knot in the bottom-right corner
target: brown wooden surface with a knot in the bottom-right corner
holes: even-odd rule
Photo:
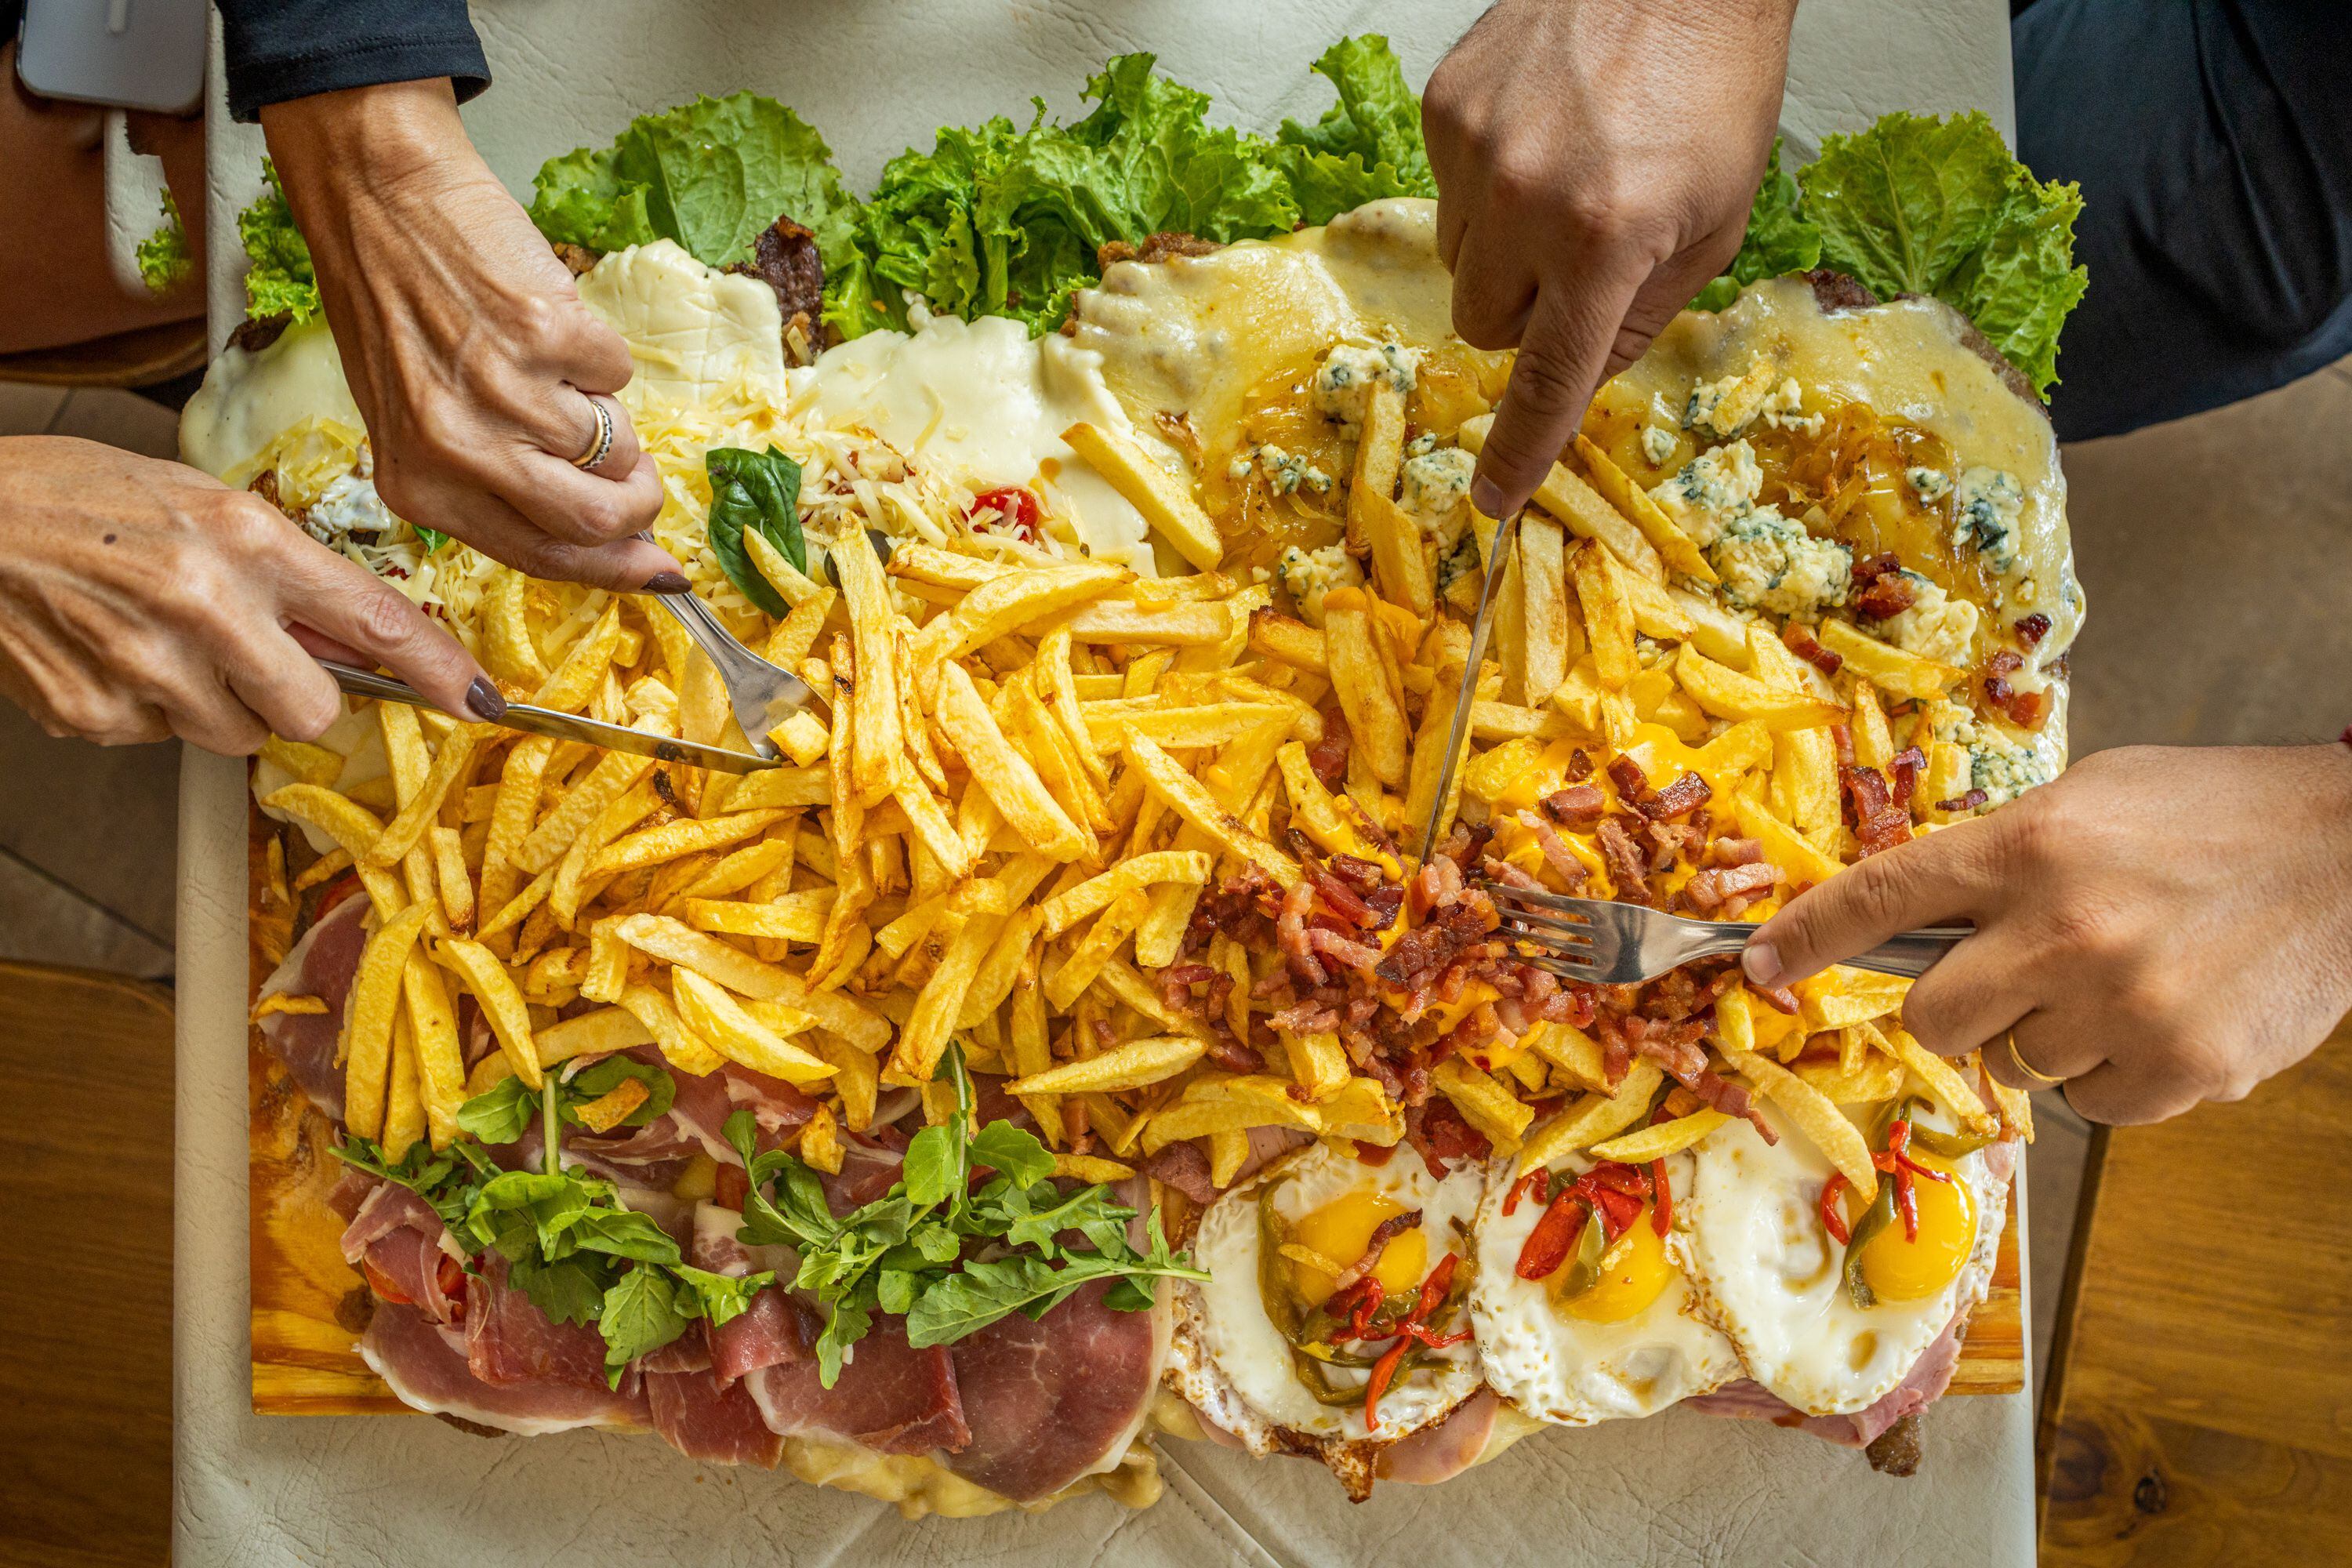
[[[2237,1105],[2117,1128],[2042,1406],[2042,1561],[2352,1561],[2352,1020]]]

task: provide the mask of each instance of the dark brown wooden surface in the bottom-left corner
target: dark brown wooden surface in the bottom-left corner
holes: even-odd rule
[[[0,1566],[172,1556],[172,994],[0,961]]]

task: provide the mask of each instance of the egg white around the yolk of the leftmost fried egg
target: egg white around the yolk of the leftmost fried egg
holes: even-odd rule
[[[1298,1382],[1291,1347],[1258,1295],[1258,1197],[1265,1182],[1284,1178],[1275,1208],[1291,1220],[1345,1192],[1376,1192],[1418,1208],[1430,1267],[1449,1251],[1468,1253],[1465,1234],[1484,1185],[1482,1171],[1470,1164],[1435,1178],[1411,1145],[1399,1145],[1385,1166],[1367,1166],[1317,1143],[1221,1197],[1192,1237],[1192,1262],[1209,1269],[1209,1281],[1188,1284],[1176,1300],[1176,1342],[1169,1349],[1176,1392],[1251,1453],[1392,1443],[1442,1420],[1479,1387],[1479,1356],[1468,1340],[1397,1378],[1381,1394],[1381,1420],[1369,1432],[1362,1403],[1327,1406]],[[1468,1258],[1456,1267],[1465,1265]],[[1348,1387],[1362,1385],[1367,1373],[1336,1366],[1329,1378]]]

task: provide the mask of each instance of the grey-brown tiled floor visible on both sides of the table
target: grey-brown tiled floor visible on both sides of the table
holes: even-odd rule
[[[2138,741],[2331,733],[2352,703],[2352,369],[2201,418],[2067,451],[2091,621],[2074,654],[2077,755]],[[0,435],[52,430],[172,454],[169,411],[129,393],[0,386]],[[2253,456],[2258,454],[2258,456]],[[172,971],[179,757],[49,741],[0,705],[0,957]],[[2037,1105],[2039,1387],[2091,1128]]]

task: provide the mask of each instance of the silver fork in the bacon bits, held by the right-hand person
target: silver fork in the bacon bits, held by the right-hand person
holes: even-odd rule
[[[1479,882],[1503,914],[1501,936],[1538,947],[1526,961],[1588,985],[1635,985],[1656,980],[1696,959],[1740,952],[1757,933],[1752,924],[1689,919],[1609,898],[1569,898],[1501,882]],[[1919,978],[1976,926],[1926,926],[1889,938],[1844,964],[1882,976]]]

